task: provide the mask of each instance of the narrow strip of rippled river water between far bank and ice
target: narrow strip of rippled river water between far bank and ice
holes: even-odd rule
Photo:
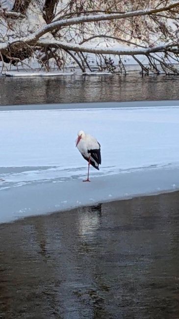
[[[0,77],[0,105],[179,100],[179,77]]]

